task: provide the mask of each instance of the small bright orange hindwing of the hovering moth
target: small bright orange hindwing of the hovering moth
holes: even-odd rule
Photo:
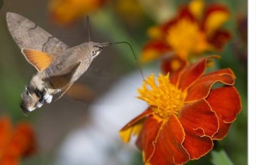
[[[44,70],[53,61],[53,57],[45,52],[32,49],[23,49],[22,53],[27,61],[32,64],[38,71]]]

